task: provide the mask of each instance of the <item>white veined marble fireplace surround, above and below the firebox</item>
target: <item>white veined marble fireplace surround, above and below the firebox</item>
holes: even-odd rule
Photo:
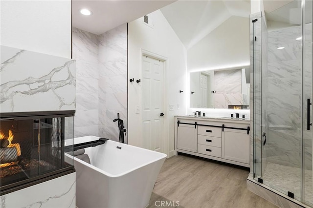
[[[0,61],[2,115],[43,115],[45,112],[58,112],[61,115],[75,112],[75,60],[1,45]],[[22,189],[1,194],[0,207],[46,204],[50,207],[75,208],[73,171],[60,177],[51,177],[48,181],[38,181],[33,186],[24,186]],[[17,196],[19,200],[16,200]]]

